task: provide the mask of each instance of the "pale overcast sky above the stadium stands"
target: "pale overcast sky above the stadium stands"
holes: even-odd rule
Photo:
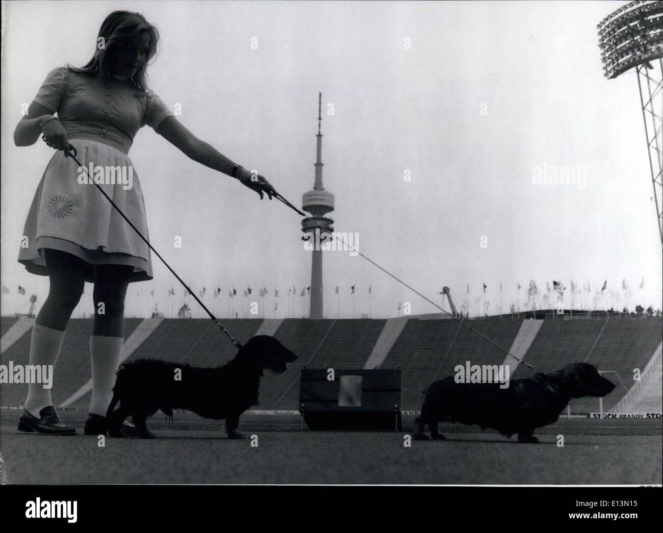
[[[507,312],[520,284],[524,310],[530,280],[543,292],[546,281],[560,280],[567,289],[589,282],[594,306],[607,280],[599,306],[660,308],[661,244],[636,76],[604,78],[598,48],[597,23],[623,3],[3,3],[0,278],[9,294],[1,312],[27,312],[30,294],[38,310],[48,294],[48,278],[16,261],[52,155],[40,141],[14,146],[21,105],[56,66],[90,59],[99,25],[116,9],[139,11],[158,27],[149,84],[169,107],[180,105],[178,119],[299,207],[313,187],[322,92],[323,180],[335,196],[335,230],[357,233],[361,253],[434,302],[449,286],[472,315],[483,298],[489,314],[500,304]],[[213,312],[223,317],[231,307],[241,317],[258,300],[265,318],[308,312],[299,296],[311,267],[301,217],[189,160],[149,127],[129,157],[152,245],[196,292],[206,288]],[[575,169],[582,179],[536,182],[552,169]],[[361,257],[323,256],[328,318],[369,310],[389,318],[404,302],[414,315],[436,312]],[[154,280],[129,286],[127,316],[149,316],[155,304],[174,313],[184,302],[183,288],[152,258]],[[229,302],[233,287],[238,296]],[[245,299],[246,287],[266,287],[269,296]],[[91,292],[86,284],[74,317],[89,316]],[[186,301],[194,317],[204,316]]]

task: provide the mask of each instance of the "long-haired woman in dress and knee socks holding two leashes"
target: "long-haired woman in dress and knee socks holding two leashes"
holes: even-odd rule
[[[19,253],[19,262],[29,272],[50,280],[48,298],[32,328],[30,365],[55,365],[84,282],[94,283],[92,398],[85,434],[106,432],[105,412],[123,345],[127,285],[152,279],[152,262],[147,245],[68,158],[70,143],[86,169],[90,164],[95,169],[112,168],[117,178],[119,167],[122,176],[131,176],[116,181],[106,174],[101,186],[146,237],[143,192],[127,157],[143,125],[151,126],[194,161],[237,178],[261,199],[263,191],[270,200],[274,192],[263,176],[252,176],[196,138],[147,89],[147,64],[157,43],[158,32],[143,15],[114,11],[101,25],[90,62],[82,68],[52,70],[14,132],[19,147],[34,145],[43,136],[58,150],[34,196],[24,231],[27,247]],[[19,430],[76,434],[56,414],[50,389],[36,384],[29,386]]]

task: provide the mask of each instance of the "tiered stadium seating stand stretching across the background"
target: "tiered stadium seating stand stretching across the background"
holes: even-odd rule
[[[212,367],[223,365],[235,356],[235,348],[229,339],[210,320],[166,319],[153,322],[150,328],[147,328],[147,322],[141,319],[127,319],[125,322],[125,338],[130,337],[139,324],[142,324],[141,329],[145,329],[143,335],[133,337],[141,341],[129,359],[151,357]],[[299,356],[286,374],[265,373],[261,383],[261,404],[257,407],[259,410],[296,410],[302,365],[308,368],[364,368],[371,354],[375,353],[376,346],[385,344],[385,337],[389,337],[389,343],[381,350],[386,351],[388,345],[391,349],[386,357],[381,354],[377,359],[381,360],[379,366],[383,369],[400,365],[401,405],[404,410],[417,409],[422,390],[435,379],[452,376],[457,364],[465,364],[465,361],[477,365],[505,363],[503,351],[455,320],[409,318],[398,324],[398,330],[404,327],[397,335],[393,331],[390,333],[394,323],[387,320],[285,319],[268,322],[235,319],[224,320],[223,323],[242,342],[258,331],[276,328],[274,336]],[[16,319],[3,318],[0,324],[7,333],[16,324]],[[522,319],[509,316],[469,320],[467,324],[505,349],[515,345],[519,331],[522,335],[522,330],[528,329]],[[604,398],[604,411],[618,409],[624,412],[637,408],[638,412],[643,409],[660,412],[660,375],[657,377],[658,395],[656,380],[649,379],[638,385],[640,392],[637,395],[631,394],[633,401],[620,400],[633,385],[633,369],[645,369],[652,360],[661,343],[661,324],[660,318],[610,316],[606,319],[605,315],[600,320],[548,318],[541,321],[538,332],[534,331],[536,336],[533,340],[528,339],[531,344],[524,359],[544,372],[558,370],[569,363],[587,361],[606,371],[606,377],[617,385],[615,391]],[[72,408],[86,408],[89,402],[90,392],[84,393],[82,388],[90,379],[91,326],[89,319],[70,322],[56,367],[56,385],[52,390],[57,405],[68,401],[68,406]],[[0,358],[3,365],[9,361],[15,365],[28,363],[30,334],[31,330],[28,330],[11,345],[6,343],[9,347]],[[383,341],[379,343],[381,338]],[[660,367],[660,362],[658,365]],[[650,374],[654,376],[656,372]],[[524,365],[512,369],[512,379],[531,375],[532,371]],[[64,376],[66,380],[62,379]],[[3,385],[0,406],[21,405],[26,392],[27,385]],[[597,410],[597,398],[572,402],[573,413]]]

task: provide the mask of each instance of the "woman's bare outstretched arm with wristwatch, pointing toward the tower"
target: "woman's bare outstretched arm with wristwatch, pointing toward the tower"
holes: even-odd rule
[[[167,117],[161,121],[156,129],[156,133],[182,150],[182,153],[194,161],[228,176],[232,175],[235,163],[205,141],[198,139],[196,135],[186,129],[175,117]],[[272,192],[274,190],[263,176],[251,174],[249,170],[240,166],[237,169],[237,176],[235,177],[249,189],[257,192],[260,198],[263,198],[264,191],[267,192],[269,199],[272,199]]]

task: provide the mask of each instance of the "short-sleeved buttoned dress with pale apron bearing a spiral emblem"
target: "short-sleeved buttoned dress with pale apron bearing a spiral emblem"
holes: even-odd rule
[[[94,78],[67,67],[46,76],[34,101],[57,113],[87,172],[62,150],[54,154],[30,206],[19,263],[47,276],[44,249],[50,248],[86,261],[86,281],[93,281],[94,266],[102,264],[133,266],[131,281],[152,279],[149,247],[93,181],[149,239],[141,182],[127,153],[141,127],[156,130],[173,113],[132,80]]]

